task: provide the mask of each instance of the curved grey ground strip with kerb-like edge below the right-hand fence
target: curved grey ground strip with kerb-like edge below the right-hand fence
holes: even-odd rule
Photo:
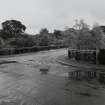
[[[94,69],[102,71],[105,70],[105,65],[93,64],[84,61],[76,61],[74,59],[70,59],[66,54],[57,57],[56,61],[63,65],[82,68],[82,69],[84,68],[84,69]]]

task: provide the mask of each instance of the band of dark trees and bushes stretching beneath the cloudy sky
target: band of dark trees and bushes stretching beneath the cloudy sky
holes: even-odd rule
[[[73,49],[104,49],[105,26],[94,24],[92,28],[84,20],[76,20],[72,28],[54,30],[43,28],[36,35],[25,33],[26,26],[17,20],[6,20],[0,30],[0,55],[37,51],[58,47]]]

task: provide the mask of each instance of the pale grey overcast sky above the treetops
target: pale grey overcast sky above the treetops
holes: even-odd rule
[[[0,23],[18,19],[31,34],[72,27],[80,18],[105,24],[105,0],[0,0]]]

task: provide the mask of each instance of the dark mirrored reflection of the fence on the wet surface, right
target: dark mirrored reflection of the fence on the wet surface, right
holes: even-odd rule
[[[72,80],[96,80],[101,84],[105,84],[105,71],[95,70],[76,70],[68,72],[68,78]]]

